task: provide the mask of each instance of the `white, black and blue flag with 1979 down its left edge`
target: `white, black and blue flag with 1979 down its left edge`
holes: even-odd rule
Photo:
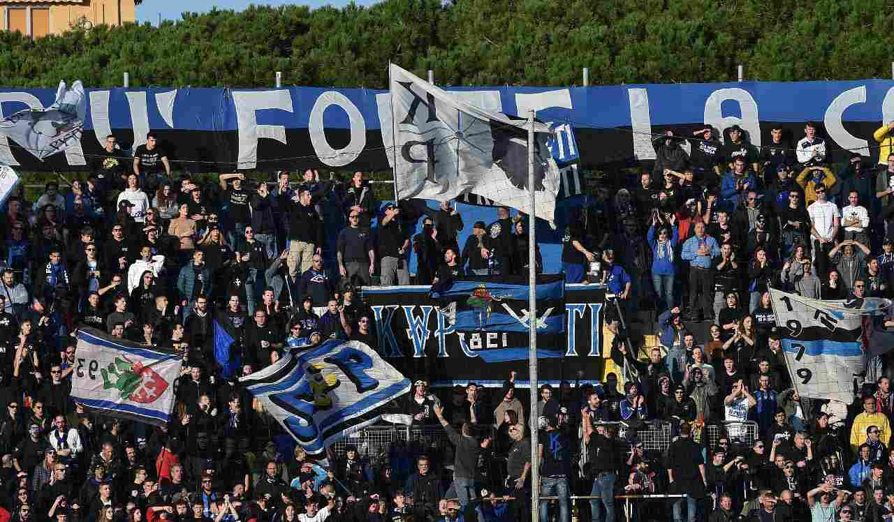
[[[770,299],[798,394],[849,404],[854,376],[866,369],[865,319],[884,313],[890,300],[822,301],[773,289]]]

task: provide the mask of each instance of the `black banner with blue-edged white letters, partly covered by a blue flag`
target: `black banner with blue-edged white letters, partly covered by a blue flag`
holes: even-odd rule
[[[364,288],[363,300],[373,310],[378,351],[404,375],[429,375],[434,385],[474,381],[499,385],[517,370],[527,376],[527,357],[493,360],[485,352],[510,349],[510,338],[497,332],[458,332],[451,324],[450,309],[431,299],[427,286]],[[541,358],[537,374],[541,382],[598,378],[603,368],[603,287],[569,284],[565,287],[563,320],[566,336],[561,357]],[[491,362],[488,362],[491,360]],[[527,382],[517,381],[518,386]]]

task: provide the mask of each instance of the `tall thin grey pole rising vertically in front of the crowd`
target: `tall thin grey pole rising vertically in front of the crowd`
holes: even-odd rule
[[[527,209],[527,308],[528,329],[530,332],[530,349],[528,353],[528,370],[531,382],[531,522],[537,522],[540,512],[540,463],[537,456],[537,256],[536,256],[536,211],[534,182],[534,117],[531,111],[530,125],[527,128],[527,192],[530,194],[530,206]]]

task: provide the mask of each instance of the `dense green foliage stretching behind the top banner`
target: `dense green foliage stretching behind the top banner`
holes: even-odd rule
[[[890,6],[889,6],[890,4]],[[188,5],[188,3],[184,3]],[[388,62],[442,85],[887,78],[892,0],[384,0],[183,13],[160,27],[0,32],[0,84],[386,88]]]

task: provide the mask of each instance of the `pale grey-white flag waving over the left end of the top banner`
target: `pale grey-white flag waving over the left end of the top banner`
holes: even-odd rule
[[[60,81],[53,105],[0,118],[0,133],[43,160],[68,147],[80,147],[86,114],[87,95],[80,80],[72,88]]]

